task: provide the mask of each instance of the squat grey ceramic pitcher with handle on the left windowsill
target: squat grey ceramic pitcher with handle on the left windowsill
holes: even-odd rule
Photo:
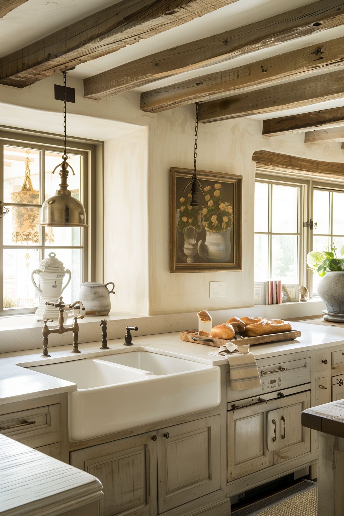
[[[112,285],[109,291],[108,285]],[[114,283],[96,283],[88,281],[80,283],[80,293],[78,299],[85,307],[85,315],[107,315],[111,309],[110,294],[116,294],[113,291]]]

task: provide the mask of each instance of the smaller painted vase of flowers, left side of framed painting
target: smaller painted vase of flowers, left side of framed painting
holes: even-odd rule
[[[184,253],[187,256],[187,263],[193,263],[193,256],[197,252],[197,233],[202,230],[200,209],[190,206],[191,193],[187,199],[181,197],[180,208],[177,210],[178,230],[184,234]]]

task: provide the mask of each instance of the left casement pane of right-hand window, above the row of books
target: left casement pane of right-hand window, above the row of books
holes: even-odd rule
[[[302,185],[258,179],[255,184],[255,280],[298,283]]]

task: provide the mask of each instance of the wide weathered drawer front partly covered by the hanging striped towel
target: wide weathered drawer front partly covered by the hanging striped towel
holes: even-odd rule
[[[259,365],[261,387],[250,389],[250,396],[257,396],[276,390],[286,389],[294,385],[302,385],[310,382],[310,358],[292,360],[289,362],[277,362],[272,365]],[[235,401],[247,396],[248,391],[232,391],[230,373],[227,373],[227,401]],[[244,393],[244,395],[243,395]]]

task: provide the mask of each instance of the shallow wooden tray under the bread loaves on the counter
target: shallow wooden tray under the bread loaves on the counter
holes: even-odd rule
[[[301,331],[285,331],[283,333],[270,333],[270,335],[259,335],[257,337],[234,338],[226,341],[224,338],[202,337],[198,334],[198,330],[181,331],[181,340],[192,342],[193,344],[205,344],[219,348],[227,342],[242,346],[243,344],[265,344],[266,342],[290,341],[301,336]]]

